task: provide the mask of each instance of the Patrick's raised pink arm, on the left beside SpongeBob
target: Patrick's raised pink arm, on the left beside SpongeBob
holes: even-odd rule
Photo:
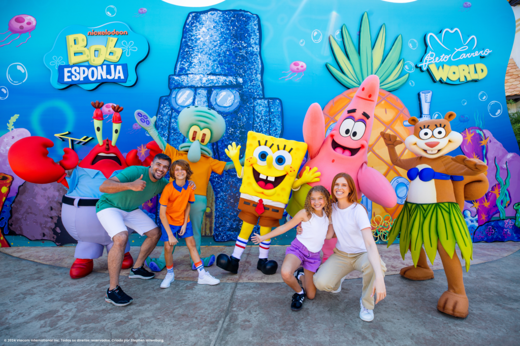
[[[310,105],[303,120],[303,140],[307,143],[309,158],[313,159],[320,150],[325,138],[325,119],[321,106],[317,103]]]

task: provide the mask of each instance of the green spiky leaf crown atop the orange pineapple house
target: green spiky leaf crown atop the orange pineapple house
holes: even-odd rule
[[[359,50],[356,49],[345,24],[341,28],[341,33],[345,52],[337,44],[335,38],[332,35],[329,36],[332,54],[341,71],[329,63],[326,66],[332,76],[342,85],[347,88],[359,87],[361,82],[371,74],[379,77],[380,87],[386,91],[399,89],[406,83],[408,73],[399,77],[404,66],[404,59],[399,60],[402,49],[401,35],[397,36],[388,54],[386,54],[386,58],[383,59],[386,36],[385,24],[381,25],[378,37],[372,47],[367,12],[363,14],[361,19]]]

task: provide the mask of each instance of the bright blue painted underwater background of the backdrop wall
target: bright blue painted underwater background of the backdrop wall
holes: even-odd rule
[[[115,11],[109,6],[115,7]],[[140,8],[146,8],[146,13],[139,13]],[[0,13],[0,31],[7,30],[11,18],[21,14],[34,17],[36,28],[27,43],[17,47],[29,37],[29,34],[22,34],[11,44],[0,47],[0,86],[6,87],[9,92],[6,99],[0,100],[3,123],[7,123],[12,115],[19,114],[15,128],[25,128],[32,135],[53,139],[55,147],[50,150],[50,156],[58,160],[62,151],[57,149],[66,143],[54,139],[53,134],[71,131],[79,137],[94,136],[91,122],[94,108],[90,106],[90,101],[99,100],[125,108],[121,113],[123,125],[118,140],[123,153],[146,144],[151,138],[146,136],[144,130],[132,131],[134,111],[144,109],[149,114],[157,112],[160,96],[170,92],[168,75],[174,73],[186,17],[191,11],[209,8],[242,9],[259,16],[262,25],[264,96],[282,100],[282,136],[300,141],[303,140],[302,123],[308,106],[318,102],[323,107],[346,90],[325,67],[327,62],[336,65],[328,37],[333,35],[341,38],[336,32],[343,24],[346,24],[357,47],[356,33],[363,12],[367,11],[372,44],[380,26],[385,23],[385,54],[394,39],[401,34],[401,58],[413,65],[418,64],[424,55],[426,33],[439,33],[443,29],[457,27],[462,35],[476,37],[475,49],[492,50],[486,58],[480,59],[487,66],[487,76],[476,82],[449,85],[433,82],[427,72],[421,72],[415,66],[407,83],[393,93],[415,116],[419,115],[417,94],[423,90],[433,91],[432,114],[439,112],[444,115],[453,110],[458,115],[468,116],[470,122],[475,112],[484,114],[485,128],[500,139],[508,151],[518,153],[504,95],[505,69],[515,32],[514,16],[507,2],[491,0],[472,1],[470,7],[458,0],[418,0],[405,4],[381,0],[265,1],[262,4],[256,1],[226,0],[211,7],[199,8],[179,7],[160,0],[88,3],[57,1],[53,5],[38,1],[4,2]],[[69,25],[96,27],[113,21],[126,23],[133,32],[148,40],[149,54],[137,67],[137,84],[129,88],[103,84],[93,91],[79,86],[64,90],[51,86],[50,73],[43,60],[45,54],[53,48],[58,34]],[[8,34],[1,35],[0,39]],[[16,36],[12,35],[1,44]],[[341,44],[341,41],[338,42]],[[64,42],[62,44],[65,45]],[[288,74],[283,72],[290,71],[294,61],[306,64],[303,77],[298,75],[289,80],[281,78]],[[8,81],[8,66],[14,63],[21,63],[27,70],[27,79],[18,85]],[[484,100],[482,92],[487,95]],[[490,106],[493,101],[497,103]],[[502,112],[496,116],[500,108]],[[490,111],[495,117],[491,116]],[[473,125],[471,123],[468,126]],[[7,126],[0,131],[0,134],[5,133]],[[105,137],[110,136],[108,127],[105,132]],[[79,149],[80,157],[82,151],[88,151],[95,143],[92,141],[85,148]]]

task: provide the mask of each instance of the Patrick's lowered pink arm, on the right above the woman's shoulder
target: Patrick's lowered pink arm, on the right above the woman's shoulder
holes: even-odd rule
[[[374,203],[387,208],[397,204],[397,196],[392,185],[383,174],[368,167],[367,163],[363,163],[358,171],[358,185],[361,192]]]

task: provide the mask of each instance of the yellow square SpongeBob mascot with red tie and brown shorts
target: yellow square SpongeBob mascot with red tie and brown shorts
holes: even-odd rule
[[[309,167],[306,167],[301,178],[296,177],[306,151],[305,143],[249,131],[242,167],[239,161],[240,145],[237,147],[233,143],[228,146],[226,154],[235,163],[238,177],[242,178],[238,217],[243,223],[235,251],[231,257],[225,254],[218,255],[218,267],[236,274],[240,256],[245,250],[253,227],[258,223],[261,235],[269,233],[272,227],[278,227],[291,189],[298,190],[303,184],[319,182],[320,173],[316,172],[317,168],[309,170]],[[270,244],[270,239],[259,244],[260,254],[256,266],[266,275],[274,274],[278,269],[276,261],[267,260]]]

